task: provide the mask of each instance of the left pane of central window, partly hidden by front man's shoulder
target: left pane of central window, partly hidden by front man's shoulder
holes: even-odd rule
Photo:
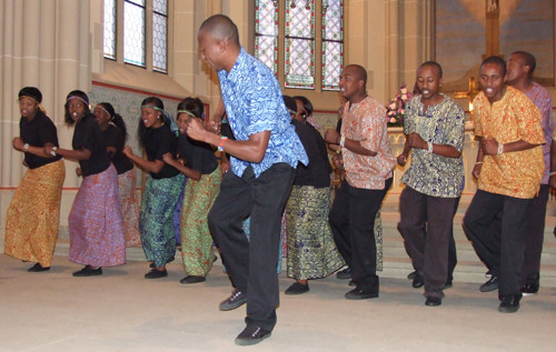
[[[256,0],[255,57],[278,74],[278,1]]]

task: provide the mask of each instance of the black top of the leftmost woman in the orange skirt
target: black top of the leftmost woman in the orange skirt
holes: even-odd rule
[[[32,147],[44,147],[47,143],[58,144],[58,133],[54,123],[42,111],[37,111],[34,118],[29,121],[27,118],[19,120],[19,135],[23,143]],[[62,157],[42,158],[26,152],[26,163],[29,169],[37,169],[48,163],[60,160]]]

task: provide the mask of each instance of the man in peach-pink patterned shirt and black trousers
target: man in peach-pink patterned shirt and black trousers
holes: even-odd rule
[[[351,269],[356,288],[348,300],[378,296],[376,274],[375,217],[391,185],[396,160],[390,152],[386,109],[367,94],[367,72],[357,64],[340,74],[344,107],[341,134],[328,130],[325,140],[339,144],[346,179],[341,182],[330,210],[334,241]]]

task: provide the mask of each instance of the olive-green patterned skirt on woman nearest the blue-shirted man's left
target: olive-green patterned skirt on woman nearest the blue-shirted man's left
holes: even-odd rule
[[[189,179],[181,207],[181,258],[189,275],[205,276],[212,266],[212,235],[207,215],[220,191],[220,168],[199,181]]]

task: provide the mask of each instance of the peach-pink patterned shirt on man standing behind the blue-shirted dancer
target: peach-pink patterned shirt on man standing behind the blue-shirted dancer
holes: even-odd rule
[[[342,120],[341,135],[377,152],[376,157],[361,155],[342,148],[347,182],[359,189],[384,190],[396,164],[388,140],[386,109],[369,95],[359,103],[347,102]]]

